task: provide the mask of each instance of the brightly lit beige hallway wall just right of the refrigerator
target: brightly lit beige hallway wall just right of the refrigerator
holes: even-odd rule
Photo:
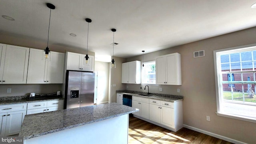
[[[109,62],[95,61],[94,71],[98,71],[97,104],[109,102],[108,101],[109,69],[110,69]]]

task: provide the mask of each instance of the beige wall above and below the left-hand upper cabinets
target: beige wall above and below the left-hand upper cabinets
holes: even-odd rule
[[[0,43],[11,44],[15,46],[24,46],[28,48],[45,49],[46,42],[40,40],[30,39],[24,36],[10,36],[4,32],[0,33]],[[86,54],[86,49],[78,48],[74,49],[70,46],[63,46],[62,44],[49,44],[51,51],[55,52],[76,52],[80,54]],[[89,55],[95,56],[94,52],[88,52]],[[24,96],[30,92],[49,94],[62,90],[63,84],[1,84],[0,85],[0,97],[2,96]],[[11,93],[6,93],[7,88],[12,88]],[[64,91],[62,90],[62,93]]]

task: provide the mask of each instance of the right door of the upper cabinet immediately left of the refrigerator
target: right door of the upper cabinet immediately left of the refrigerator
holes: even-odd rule
[[[47,75],[45,80],[49,84],[62,84],[64,73],[65,54],[60,52],[51,52],[51,60],[48,61]]]

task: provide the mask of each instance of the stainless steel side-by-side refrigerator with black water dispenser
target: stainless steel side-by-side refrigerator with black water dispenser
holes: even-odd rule
[[[94,104],[94,72],[67,70],[64,108]]]

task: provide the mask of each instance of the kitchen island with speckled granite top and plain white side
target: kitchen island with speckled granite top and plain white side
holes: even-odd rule
[[[19,136],[24,144],[127,144],[128,114],[137,111],[107,103],[26,115]]]

